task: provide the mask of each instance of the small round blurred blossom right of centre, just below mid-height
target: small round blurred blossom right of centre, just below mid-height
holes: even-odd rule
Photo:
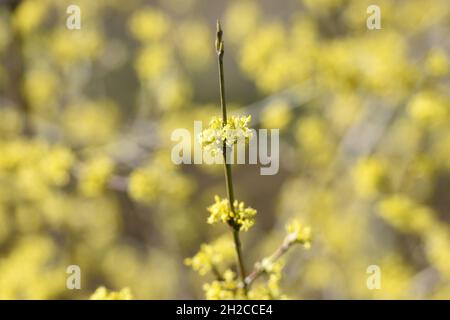
[[[387,174],[386,166],[380,159],[359,159],[352,173],[356,191],[366,198],[379,195],[386,189]]]

